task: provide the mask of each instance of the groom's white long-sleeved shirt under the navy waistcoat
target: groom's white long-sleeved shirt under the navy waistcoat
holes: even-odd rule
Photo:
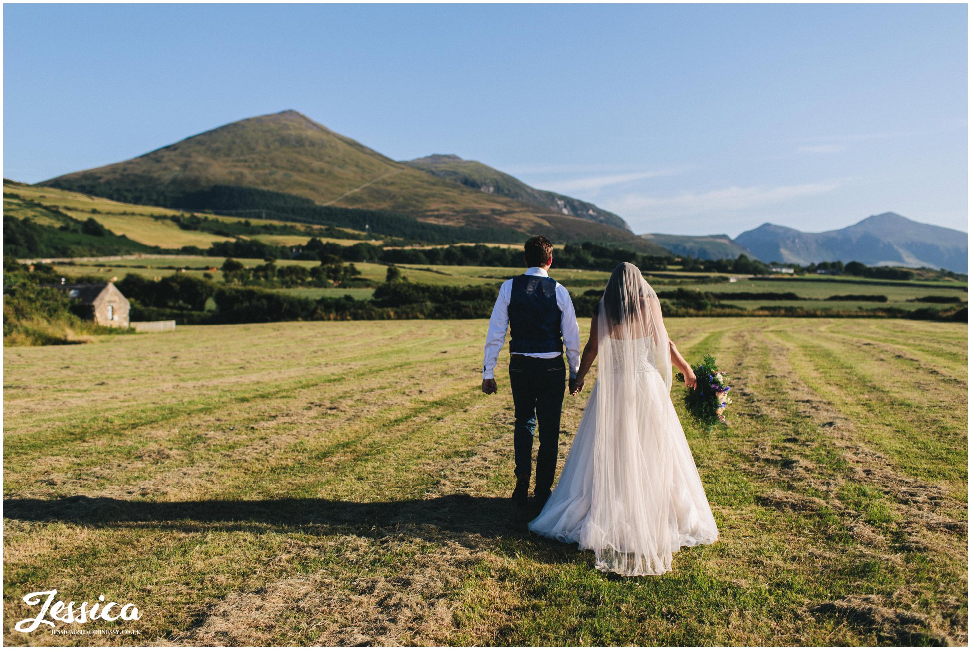
[[[526,269],[526,275],[538,275],[544,278],[550,277],[545,269],[539,266],[530,266]],[[495,307],[492,308],[492,318],[488,322],[488,338],[485,340],[485,351],[483,356],[483,379],[495,377],[495,364],[499,360],[499,351],[506,343],[506,329],[509,327],[509,298],[513,292],[513,281],[507,280],[499,288],[499,297],[495,299]],[[559,330],[563,334],[563,347],[566,348],[566,359],[570,364],[570,377],[576,377],[580,370],[580,325],[577,325],[577,312],[573,308],[573,300],[570,299],[570,291],[556,283],[556,306],[559,308]],[[522,354],[523,357],[538,357],[540,359],[555,359],[559,357],[558,352],[530,352],[530,353],[511,353],[514,355]]]

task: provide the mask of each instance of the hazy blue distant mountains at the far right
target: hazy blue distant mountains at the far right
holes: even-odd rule
[[[809,264],[841,260],[869,266],[929,266],[967,273],[966,232],[915,222],[892,212],[825,232],[802,232],[763,223],[734,241],[762,261]]]

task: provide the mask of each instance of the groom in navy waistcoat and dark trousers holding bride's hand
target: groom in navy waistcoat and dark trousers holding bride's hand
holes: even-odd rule
[[[559,415],[563,405],[563,347],[570,362],[570,393],[580,367],[580,327],[570,292],[547,271],[552,265],[552,244],[543,236],[525,244],[526,272],[507,280],[492,309],[483,359],[483,393],[496,392],[495,365],[509,341],[509,384],[516,405],[513,446],[516,449],[516,491],[513,502],[524,509],[532,470],[533,434],[539,421],[540,448],[536,457],[536,506],[550,497],[556,471]]]

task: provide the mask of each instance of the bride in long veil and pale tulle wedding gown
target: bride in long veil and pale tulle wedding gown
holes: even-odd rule
[[[529,530],[577,542],[596,567],[660,575],[683,546],[711,544],[718,528],[671,402],[672,359],[694,373],[667,336],[660,302],[633,264],[620,264],[590,325],[577,383],[600,355],[559,482]],[[579,390],[579,389],[578,389]]]

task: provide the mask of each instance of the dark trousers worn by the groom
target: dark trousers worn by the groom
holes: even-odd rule
[[[540,449],[536,456],[536,495],[549,494],[556,471],[556,444],[559,442],[559,414],[566,387],[563,358],[538,359],[512,355],[509,384],[516,405],[513,446],[516,449],[516,476],[529,480],[532,473],[533,434],[539,421]]]

